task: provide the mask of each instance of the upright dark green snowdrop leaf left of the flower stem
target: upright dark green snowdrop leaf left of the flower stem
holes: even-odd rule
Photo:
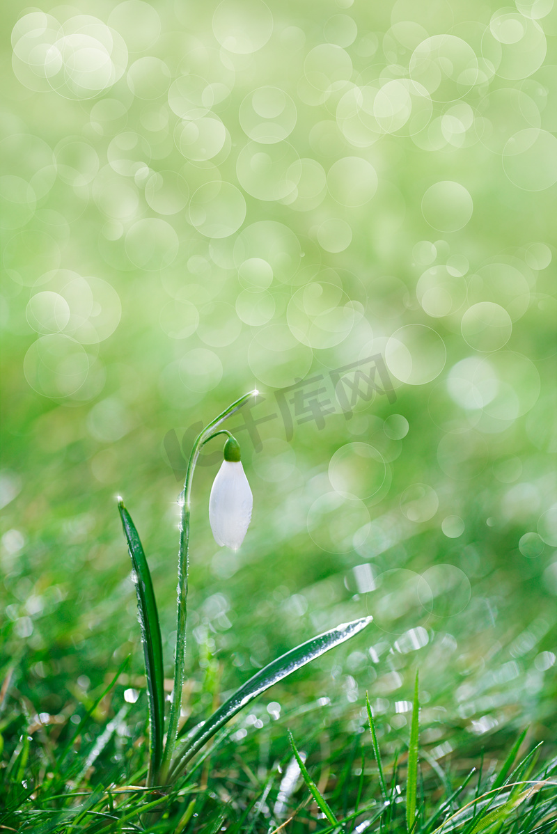
[[[138,595],[139,622],[145,658],[145,674],[148,686],[149,736],[151,777],[154,778],[163,759],[164,732],[164,667],[163,641],[158,622],[157,602],[151,580],[147,559],[139,540],[131,515],[118,500],[118,510],[122,519],[123,531],[128,541],[129,555],[132,559],[135,590]]]

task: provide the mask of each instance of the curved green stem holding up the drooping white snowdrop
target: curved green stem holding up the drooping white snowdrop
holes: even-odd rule
[[[170,703],[170,714],[168,716],[168,732],[166,745],[164,747],[163,762],[160,769],[160,783],[165,784],[168,778],[168,771],[170,762],[172,760],[174,747],[178,738],[178,723],[180,720],[180,710],[182,706],[182,689],[183,679],[185,673],[185,654],[186,654],[186,620],[188,617],[188,560],[189,560],[189,519],[191,511],[191,493],[193,470],[198,462],[199,453],[202,446],[219,434],[229,434],[226,430],[219,430],[213,432],[218,425],[227,420],[232,414],[235,414],[238,409],[241,409],[244,404],[248,402],[253,396],[257,396],[258,391],[250,391],[249,394],[243,394],[228,409],[224,409],[218,417],[215,417],[197,436],[191,454],[188,460],[188,469],[186,470],[186,479],[183,484],[183,494],[180,496],[181,511],[180,511],[180,540],[178,546],[178,610],[176,623],[176,654],[174,658],[174,683],[172,691],[172,699]]]

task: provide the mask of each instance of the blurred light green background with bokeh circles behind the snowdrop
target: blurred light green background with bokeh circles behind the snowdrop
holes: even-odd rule
[[[68,716],[129,653],[141,673],[117,494],[171,674],[184,456],[257,387],[228,425],[254,496],[238,552],[208,526],[216,444],[196,472],[188,673],[220,662],[228,690],[370,613],[275,712],[328,696],[349,715],[368,689],[399,730],[419,668],[434,758],[455,726],[549,738],[553,0],[14,0],[2,18],[19,690]]]

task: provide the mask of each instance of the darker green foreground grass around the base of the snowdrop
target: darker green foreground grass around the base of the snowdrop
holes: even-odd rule
[[[13,684],[4,689],[0,830],[557,831],[557,760],[551,751],[532,745],[524,732],[496,759],[496,737],[484,754],[462,734],[450,756],[432,755],[431,746],[418,740],[418,731],[427,736],[431,726],[418,725],[417,687],[409,732],[385,731],[359,704],[350,711],[347,732],[341,706],[324,711],[320,701],[293,706],[263,726],[268,711],[259,704],[223,731],[168,791],[148,789],[142,786],[145,736],[136,736],[146,731],[138,725],[142,701],[123,701],[121,675],[98,693],[77,731],[70,722],[43,726]],[[118,711],[110,721],[95,721],[95,709],[107,697]]]

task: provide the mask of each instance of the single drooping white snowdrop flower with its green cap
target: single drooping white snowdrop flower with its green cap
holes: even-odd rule
[[[209,498],[209,521],[218,545],[238,550],[248,530],[252,508],[253,495],[240,463],[240,447],[229,437]]]

